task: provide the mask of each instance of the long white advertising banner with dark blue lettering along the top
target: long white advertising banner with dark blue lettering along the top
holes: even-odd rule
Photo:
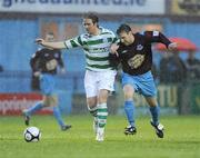
[[[164,0],[1,0],[0,12],[163,14]]]

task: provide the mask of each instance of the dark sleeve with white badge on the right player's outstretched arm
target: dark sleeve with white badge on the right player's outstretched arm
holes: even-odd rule
[[[146,31],[144,37],[146,37],[147,41],[161,42],[161,43],[166,45],[167,48],[171,43],[171,41],[163,33],[161,33],[159,31]]]

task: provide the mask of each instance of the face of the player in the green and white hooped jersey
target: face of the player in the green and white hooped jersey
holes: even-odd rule
[[[96,34],[97,23],[93,23],[91,19],[83,19],[83,27],[86,31],[90,34]]]

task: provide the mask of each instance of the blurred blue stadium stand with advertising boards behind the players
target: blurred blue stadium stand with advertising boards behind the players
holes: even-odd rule
[[[187,61],[196,51],[200,60],[200,1],[199,0],[1,0],[0,1],[0,115],[20,115],[41,96],[31,90],[30,57],[37,51],[34,39],[48,31],[57,40],[69,39],[83,32],[81,16],[96,11],[100,26],[116,31],[122,22],[132,26],[133,31],[160,30],[167,37],[190,40],[194,48],[181,50],[179,56]],[[160,61],[163,51],[153,49],[156,81],[159,102],[164,115],[200,113],[200,77],[191,69],[180,70],[183,75],[167,73],[161,81]],[[67,53],[64,53],[67,52]],[[63,50],[66,75],[58,77],[60,108],[63,113],[87,113],[83,75],[84,55],[82,50]],[[187,66],[187,63],[186,63]],[[197,71],[200,73],[200,65]],[[171,79],[173,78],[173,79]],[[138,113],[146,115],[144,100],[137,96]],[[123,113],[123,96],[120,72],[116,93],[109,99],[109,111]],[[43,113],[49,112],[43,110]]]

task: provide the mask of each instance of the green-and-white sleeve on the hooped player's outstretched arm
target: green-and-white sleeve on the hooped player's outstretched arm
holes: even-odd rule
[[[76,38],[66,40],[64,45],[66,45],[67,49],[82,47],[83,46],[82,36],[78,36]]]

